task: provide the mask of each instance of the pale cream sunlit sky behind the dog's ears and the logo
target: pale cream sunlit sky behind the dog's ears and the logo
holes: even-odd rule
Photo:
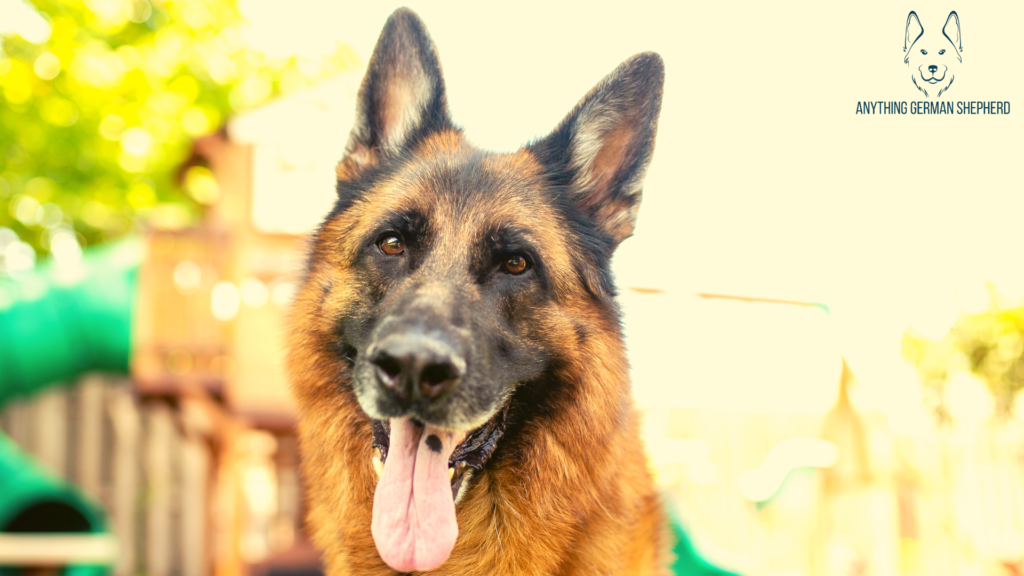
[[[671,341],[667,325],[694,318],[685,311],[695,292],[823,302],[825,327],[810,333],[750,307],[720,318],[760,322],[748,331],[770,327],[798,348],[825,338],[883,398],[912,378],[899,360],[908,325],[940,335],[957,313],[987,304],[985,282],[1011,300],[1024,295],[1024,148],[1011,137],[1024,133],[1020,114],[853,114],[858,100],[924,99],[901,65],[905,6],[837,6],[812,17],[723,3],[408,4],[438,46],[456,121],[492,150],[547,133],[630,55],[663,55],[657,150],[636,235],[614,266],[621,286],[669,297],[627,298],[631,333]],[[250,41],[268,51],[315,54],[341,40],[364,60],[398,5],[242,3]],[[1020,6],[1009,9],[959,12],[971,51],[950,97],[1022,93],[998,73],[1009,51],[1000,23],[1021,20]]]

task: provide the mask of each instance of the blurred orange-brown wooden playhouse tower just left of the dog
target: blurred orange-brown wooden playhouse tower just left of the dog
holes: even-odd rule
[[[306,235],[333,204],[357,80],[336,77],[197,140],[184,177],[205,187],[202,223],[147,236],[132,376],[143,404],[171,407],[178,431],[201,439],[203,462],[177,474],[207,489],[169,528],[218,575],[318,567],[301,530],[285,321]]]

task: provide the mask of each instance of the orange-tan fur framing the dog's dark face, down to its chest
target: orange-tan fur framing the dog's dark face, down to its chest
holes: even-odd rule
[[[330,351],[334,319],[358,305],[359,279],[345,263],[356,250],[352,239],[384,210],[442,206],[437,191],[425,189],[417,174],[457,164],[474,151],[451,131],[426,138],[416,153],[421,164],[324,227],[291,319],[288,369],[300,409],[308,520],[332,576],[394,574],[380,560],[370,530],[377,483],[370,418],[348,385],[346,365]],[[555,283],[570,296],[560,306],[535,311],[536,336],[564,351],[559,376],[568,385],[557,400],[557,418],[503,440],[501,457],[496,453],[473,476],[457,505],[456,547],[432,574],[668,574],[671,543],[639,440],[620,328],[593,299],[571,296],[582,292],[569,266],[578,247],[531,190],[539,166],[530,154],[494,155],[485,166],[507,174],[507,186],[487,211],[463,214],[461,221],[526,218],[549,249]],[[444,210],[437,211],[441,242],[457,246],[469,231],[443,221]],[[458,257],[454,248],[451,257]]]

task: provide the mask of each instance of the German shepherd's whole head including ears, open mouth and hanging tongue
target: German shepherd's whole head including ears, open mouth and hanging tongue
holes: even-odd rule
[[[395,570],[447,557],[463,469],[495,450],[516,390],[618,334],[610,258],[636,222],[663,77],[638,54],[547,137],[486,153],[452,122],[423,23],[387,20],[296,325],[304,358],[339,366],[325,384],[350,384],[374,419],[373,533]]]

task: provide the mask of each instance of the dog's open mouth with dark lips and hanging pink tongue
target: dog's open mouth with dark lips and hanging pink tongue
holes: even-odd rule
[[[455,502],[460,489],[494,453],[507,414],[508,403],[468,434],[409,417],[372,421],[380,480],[371,531],[388,566],[398,572],[427,571],[447,560],[459,536]]]

